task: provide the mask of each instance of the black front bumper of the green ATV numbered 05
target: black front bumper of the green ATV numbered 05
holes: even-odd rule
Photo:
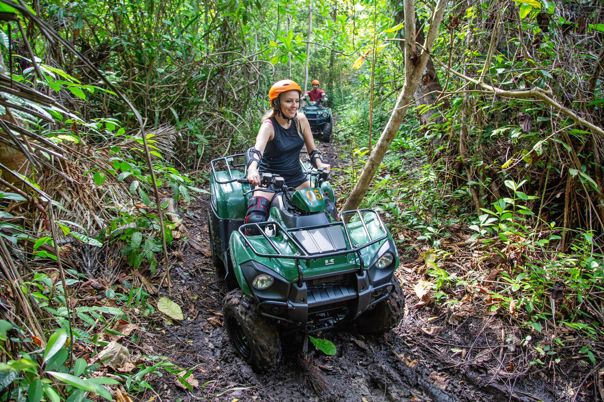
[[[332,278],[336,279],[325,282]],[[304,330],[312,333],[352,321],[390,297],[393,291],[390,277],[385,283],[373,286],[367,271],[356,271],[331,278],[311,278],[302,286],[294,283],[287,301],[260,301],[259,309],[265,316],[306,327]]]

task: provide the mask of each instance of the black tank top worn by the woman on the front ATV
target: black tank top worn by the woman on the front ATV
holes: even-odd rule
[[[292,121],[289,128],[283,128],[274,117],[269,120],[275,135],[266,143],[258,171],[279,174],[289,186],[293,186],[294,183],[290,184],[292,179],[298,181],[295,178],[302,174],[300,150],[304,146],[304,140],[298,135],[295,121]]]

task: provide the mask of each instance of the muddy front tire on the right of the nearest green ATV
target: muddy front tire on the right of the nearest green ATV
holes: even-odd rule
[[[394,291],[387,300],[381,301],[373,310],[367,310],[356,319],[359,330],[368,334],[382,334],[399,324],[405,313],[405,296],[399,280],[393,275]]]

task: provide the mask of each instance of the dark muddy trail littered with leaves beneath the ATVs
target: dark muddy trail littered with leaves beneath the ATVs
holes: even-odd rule
[[[342,168],[338,146],[322,144],[321,149],[332,168]],[[337,169],[334,171],[337,174]],[[336,197],[337,194],[336,186]],[[176,385],[172,375],[156,377],[151,383],[161,400],[585,400],[583,395],[574,394],[573,388],[579,386],[590,369],[578,361],[569,363],[564,378],[562,373],[547,367],[532,369],[530,374],[519,371],[517,367],[524,368],[521,360],[528,359],[528,352],[521,351],[521,341],[528,331],[510,329],[510,323],[497,316],[466,315],[455,321],[454,315],[437,306],[415,307],[414,283],[405,269],[407,262],[417,260],[413,250],[399,250],[401,268],[397,277],[405,287],[407,306],[405,318],[397,328],[378,337],[364,337],[354,326],[320,333],[318,338],[336,345],[335,356],[320,351],[304,358],[297,353],[284,353],[277,370],[255,374],[237,356],[222,327],[226,285],[211,262],[208,199],[209,196],[202,197],[179,212],[187,241],[179,255],[182,260],[172,269],[170,297],[182,306],[185,319],[150,330],[146,335],[155,354],[166,356],[183,368],[194,368],[193,376],[199,385],[185,391]],[[167,294],[167,289],[162,291]],[[518,340],[515,353],[502,336]],[[282,342],[287,346],[288,339]]]

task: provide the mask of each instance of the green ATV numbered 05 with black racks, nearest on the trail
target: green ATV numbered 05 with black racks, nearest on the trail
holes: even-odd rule
[[[243,158],[211,162],[208,210],[214,264],[230,288],[224,324],[237,353],[265,372],[280,361],[281,339],[291,345],[302,335],[306,351],[307,334],[345,322],[378,334],[398,325],[405,303],[394,277],[399,256],[380,216],[360,209],[335,221],[323,199],[334,199],[329,172],[302,163],[313,187],[291,189],[264,174],[262,190],[275,193],[269,219],[244,224],[254,190]]]

